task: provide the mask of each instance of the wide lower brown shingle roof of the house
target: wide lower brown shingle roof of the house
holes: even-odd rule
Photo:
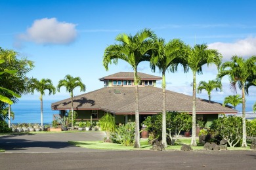
[[[114,93],[118,90],[120,93]],[[65,99],[52,104],[52,109],[69,110],[71,100]],[[100,109],[116,114],[133,114],[135,112],[135,87],[108,87],[84,93],[74,97],[74,110]],[[139,87],[139,111],[150,114],[161,112],[162,89],[156,87]],[[192,96],[166,90],[166,109],[192,112]],[[209,103],[196,99],[198,113],[236,113],[237,110],[223,107],[221,103]]]

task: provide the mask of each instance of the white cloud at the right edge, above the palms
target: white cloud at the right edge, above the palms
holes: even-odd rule
[[[240,39],[233,43],[214,42],[208,46],[211,49],[219,50],[224,61],[229,60],[234,55],[247,58],[256,54],[256,37]]]

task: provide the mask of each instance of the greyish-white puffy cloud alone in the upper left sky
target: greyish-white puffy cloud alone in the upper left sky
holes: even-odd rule
[[[26,33],[18,35],[20,41],[37,44],[69,44],[77,37],[75,24],[58,22],[56,18],[35,20]]]

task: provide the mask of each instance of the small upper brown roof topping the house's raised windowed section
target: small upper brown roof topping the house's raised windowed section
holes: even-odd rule
[[[145,73],[137,73],[141,80],[161,80],[161,76],[153,76],[148,75]],[[104,76],[102,78],[99,78],[100,81],[102,80],[113,80],[113,79],[127,79],[127,80],[133,80],[134,79],[134,73],[133,72],[119,72],[115,73],[113,75]]]

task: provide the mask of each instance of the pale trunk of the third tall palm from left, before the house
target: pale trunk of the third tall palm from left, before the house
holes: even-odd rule
[[[192,137],[191,145],[196,146],[196,71],[193,71],[193,108],[192,108]]]

